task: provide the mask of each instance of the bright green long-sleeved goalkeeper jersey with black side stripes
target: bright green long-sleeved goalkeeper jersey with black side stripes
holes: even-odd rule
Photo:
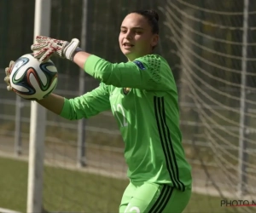
[[[131,181],[166,183],[182,191],[191,187],[191,168],[179,128],[177,88],[166,60],[145,55],[113,64],[90,55],[84,70],[100,80],[100,86],[65,99],[61,116],[90,118],[111,109],[125,141]]]

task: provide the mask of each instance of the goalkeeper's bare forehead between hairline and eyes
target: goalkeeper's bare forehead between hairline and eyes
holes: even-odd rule
[[[122,26],[125,27],[148,27],[148,21],[143,15],[141,14],[127,14],[125,19],[122,22]]]

